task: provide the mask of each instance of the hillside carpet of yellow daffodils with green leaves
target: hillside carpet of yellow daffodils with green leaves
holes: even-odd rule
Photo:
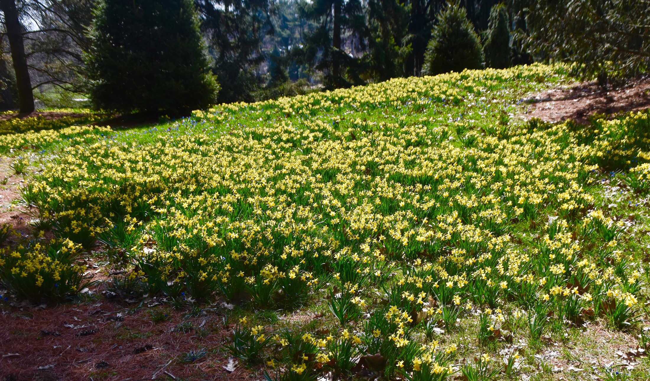
[[[224,346],[268,380],[517,379],[545,336],[590,324],[643,347],[645,243],[599,192],[604,178],[650,191],[650,114],[517,117],[566,73],[463,71],[151,129],[0,136],[31,154],[23,201],[56,237],[1,252],[1,280],[73,297],[99,242],[131,293],[236,304]]]

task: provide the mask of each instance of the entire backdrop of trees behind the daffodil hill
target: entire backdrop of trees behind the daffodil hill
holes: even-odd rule
[[[535,60],[577,63],[601,84],[649,70],[647,0],[501,1],[0,0],[0,108],[90,95],[112,110],[187,113]]]

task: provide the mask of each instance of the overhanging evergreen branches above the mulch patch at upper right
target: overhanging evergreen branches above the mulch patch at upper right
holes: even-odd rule
[[[650,67],[646,0],[515,0],[513,9],[526,13],[526,47],[538,58],[577,62],[601,82]]]

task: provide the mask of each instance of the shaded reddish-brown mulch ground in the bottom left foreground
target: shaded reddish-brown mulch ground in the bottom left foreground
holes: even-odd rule
[[[149,300],[150,304],[154,301]],[[259,380],[242,364],[227,372],[224,350],[231,327],[218,309],[185,316],[170,306],[138,306],[105,298],[59,306],[0,304],[0,380]],[[153,323],[151,311],[167,314]],[[174,329],[191,321],[186,332]],[[200,327],[200,328],[198,328]],[[183,362],[190,350],[207,355]],[[11,356],[9,356],[12,354]],[[18,355],[16,355],[18,354]],[[166,373],[165,373],[166,372]]]

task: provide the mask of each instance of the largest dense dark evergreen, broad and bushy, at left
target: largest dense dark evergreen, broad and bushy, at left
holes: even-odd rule
[[[105,110],[189,114],[217,84],[190,0],[104,0],[92,32],[91,98]]]

